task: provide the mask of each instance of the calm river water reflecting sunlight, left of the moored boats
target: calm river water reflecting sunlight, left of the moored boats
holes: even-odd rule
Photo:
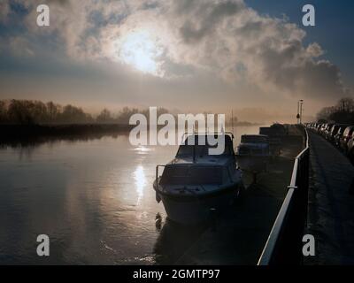
[[[0,264],[173,264],[203,231],[169,223],[155,200],[155,166],[176,150],[127,135],[0,148]],[[36,254],[42,233],[50,256]]]

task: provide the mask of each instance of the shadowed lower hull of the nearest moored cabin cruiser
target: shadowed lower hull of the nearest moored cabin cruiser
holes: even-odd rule
[[[234,185],[200,196],[157,194],[169,219],[183,225],[195,225],[208,221],[215,213],[232,205],[239,191],[239,186]]]

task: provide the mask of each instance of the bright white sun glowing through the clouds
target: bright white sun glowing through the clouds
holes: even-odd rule
[[[162,48],[148,32],[131,32],[122,38],[119,45],[119,59],[122,62],[142,73],[160,75],[158,57],[162,55]]]

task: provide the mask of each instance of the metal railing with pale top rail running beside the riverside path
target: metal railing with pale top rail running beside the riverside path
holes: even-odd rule
[[[296,157],[288,194],[269,234],[258,265],[302,264],[302,239],[307,218],[310,148],[304,128],[305,149]]]

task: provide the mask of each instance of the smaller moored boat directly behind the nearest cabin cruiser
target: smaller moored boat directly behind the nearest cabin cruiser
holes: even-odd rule
[[[242,135],[236,152],[237,164],[241,170],[247,172],[266,171],[269,157],[268,136],[262,134]]]

